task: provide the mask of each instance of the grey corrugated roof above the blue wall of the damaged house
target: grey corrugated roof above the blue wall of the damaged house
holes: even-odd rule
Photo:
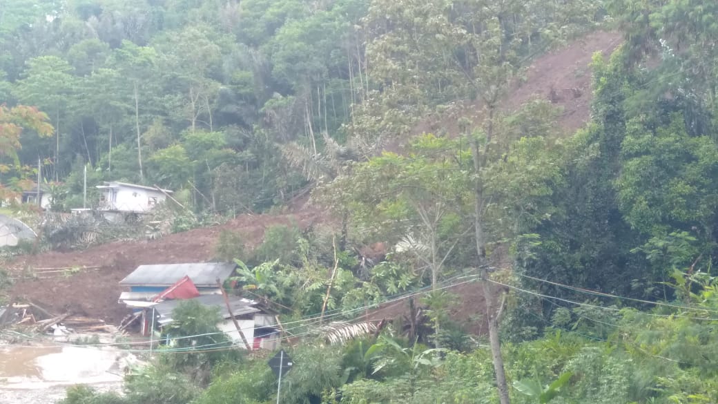
[[[199,288],[217,286],[217,279],[224,281],[237,267],[228,262],[197,262],[194,264],[140,265],[120,281],[123,286],[171,286],[188,276]]]

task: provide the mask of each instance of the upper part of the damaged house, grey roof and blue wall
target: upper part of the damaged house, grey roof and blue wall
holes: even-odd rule
[[[140,265],[120,281],[129,288],[120,300],[151,300],[167,288],[189,277],[200,295],[221,293],[217,280],[224,282],[237,265],[229,262],[195,262],[192,264]]]

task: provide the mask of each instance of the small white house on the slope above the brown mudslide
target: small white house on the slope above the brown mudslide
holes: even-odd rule
[[[171,190],[112,181],[97,185],[102,190],[98,209],[141,214],[167,198]]]

